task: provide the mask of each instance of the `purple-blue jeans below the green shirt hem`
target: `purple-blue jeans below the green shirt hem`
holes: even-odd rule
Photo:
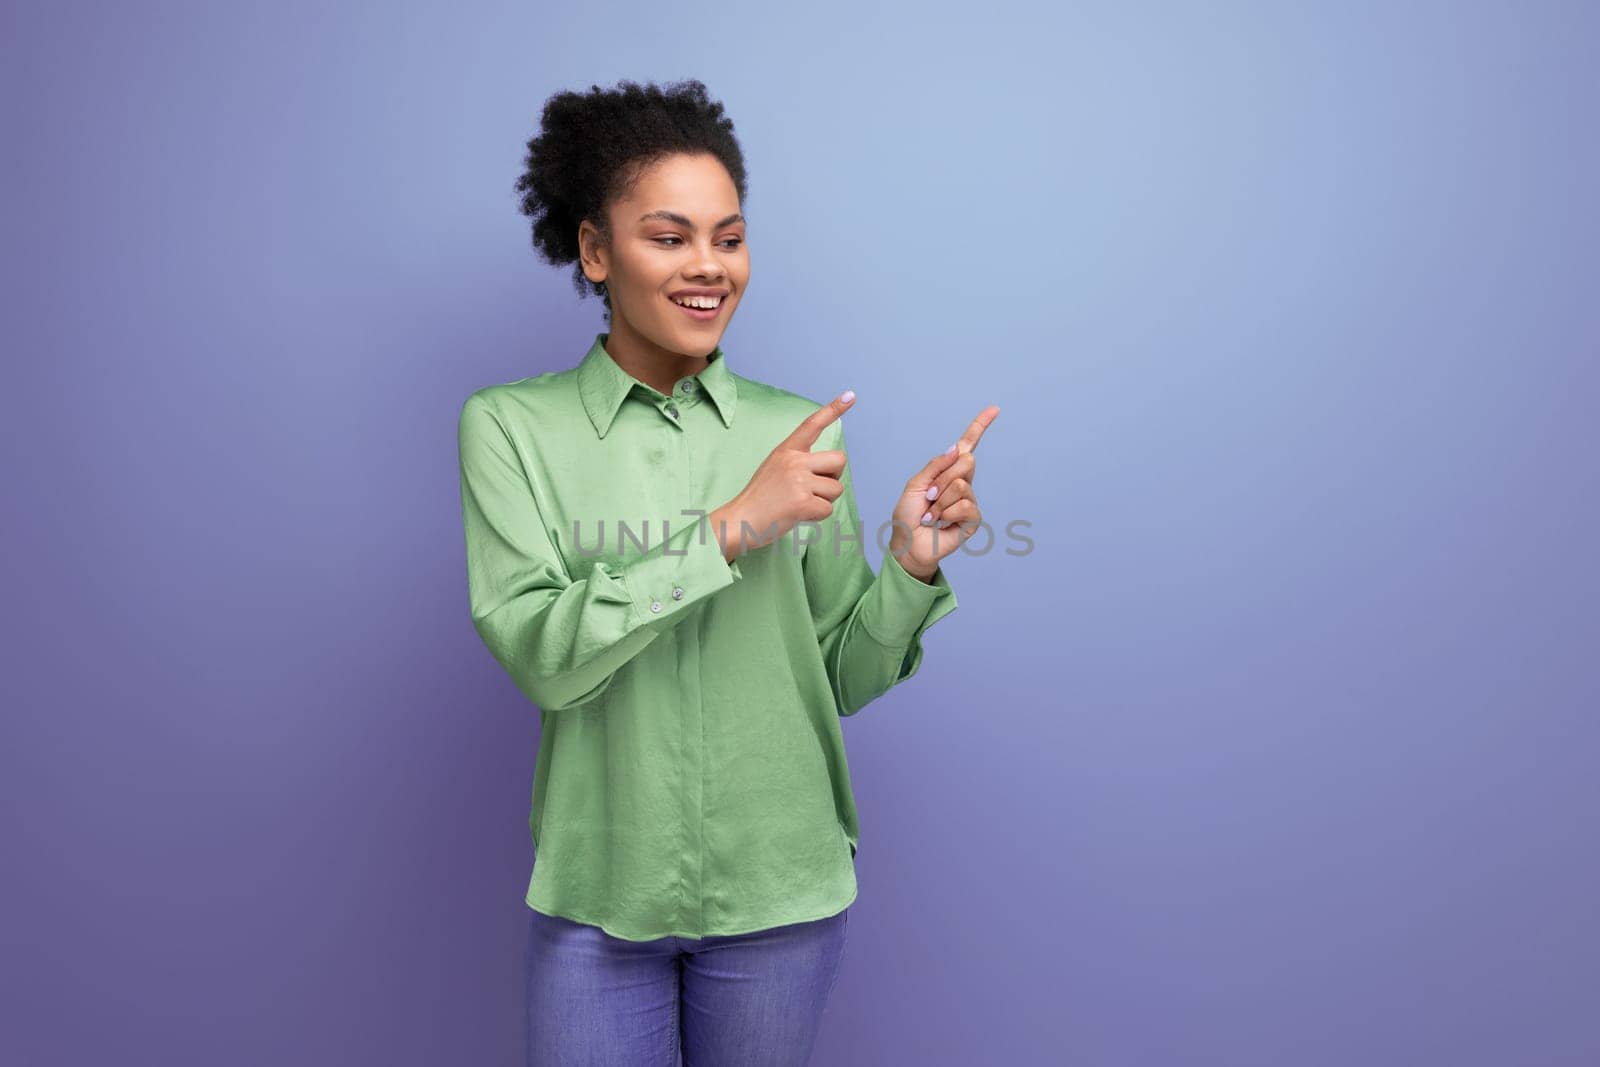
[[[749,934],[624,941],[528,910],[525,1037],[538,1067],[802,1067],[850,923],[846,907]]]

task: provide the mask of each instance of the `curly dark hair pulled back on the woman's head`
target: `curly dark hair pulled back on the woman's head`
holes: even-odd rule
[[[678,152],[722,160],[744,202],[744,152],[733,136],[733,120],[698,80],[562,91],[544,102],[539,126],[517,179],[522,213],[533,219],[533,246],[552,266],[573,264],[578,294],[598,294],[608,320],[611,296],[603,282],[584,275],[578,258],[578,226],[584,219],[610,245],[606,208],[627,195],[651,163]]]

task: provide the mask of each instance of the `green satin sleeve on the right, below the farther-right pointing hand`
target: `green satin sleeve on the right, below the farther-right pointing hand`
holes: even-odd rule
[[[845,450],[843,424],[834,422],[829,430],[835,432],[834,443],[824,432],[819,450]],[[872,574],[866,542],[877,537],[877,530],[861,523],[848,462],[840,483],[845,491],[834,501],[832,518],[819,523],[802,566],[834,702],[840,715],[854,715],[917,673],[922,635],[955,611],[957,601],[942,566],[931,582],[922,582],[885,552],[883,566]]]

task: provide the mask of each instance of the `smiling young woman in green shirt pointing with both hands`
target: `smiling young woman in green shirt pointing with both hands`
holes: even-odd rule
[[[856,897],[840,717],[955,609],[939,561],[981,520],[998,408],[910,477],[874,574],[854,394],[819,406],[720,347],[750,254],[706,86],[558,93],[517,189],[610,326],[459,424],[472,621],[541,713],[530,1062],[803,1064]]]

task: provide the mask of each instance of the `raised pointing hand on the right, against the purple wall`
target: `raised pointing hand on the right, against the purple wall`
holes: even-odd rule
[[[997,414],[1000,408],[984,408],[950,450],[930,459],[906,483],[894,506],[890,555],[899,560],[912,577],[931,581],[939,569],[939,560],[978,533],[982,512],[978,510],[978,496],[973,494],[973,475],[978,470],[973,451]]]

